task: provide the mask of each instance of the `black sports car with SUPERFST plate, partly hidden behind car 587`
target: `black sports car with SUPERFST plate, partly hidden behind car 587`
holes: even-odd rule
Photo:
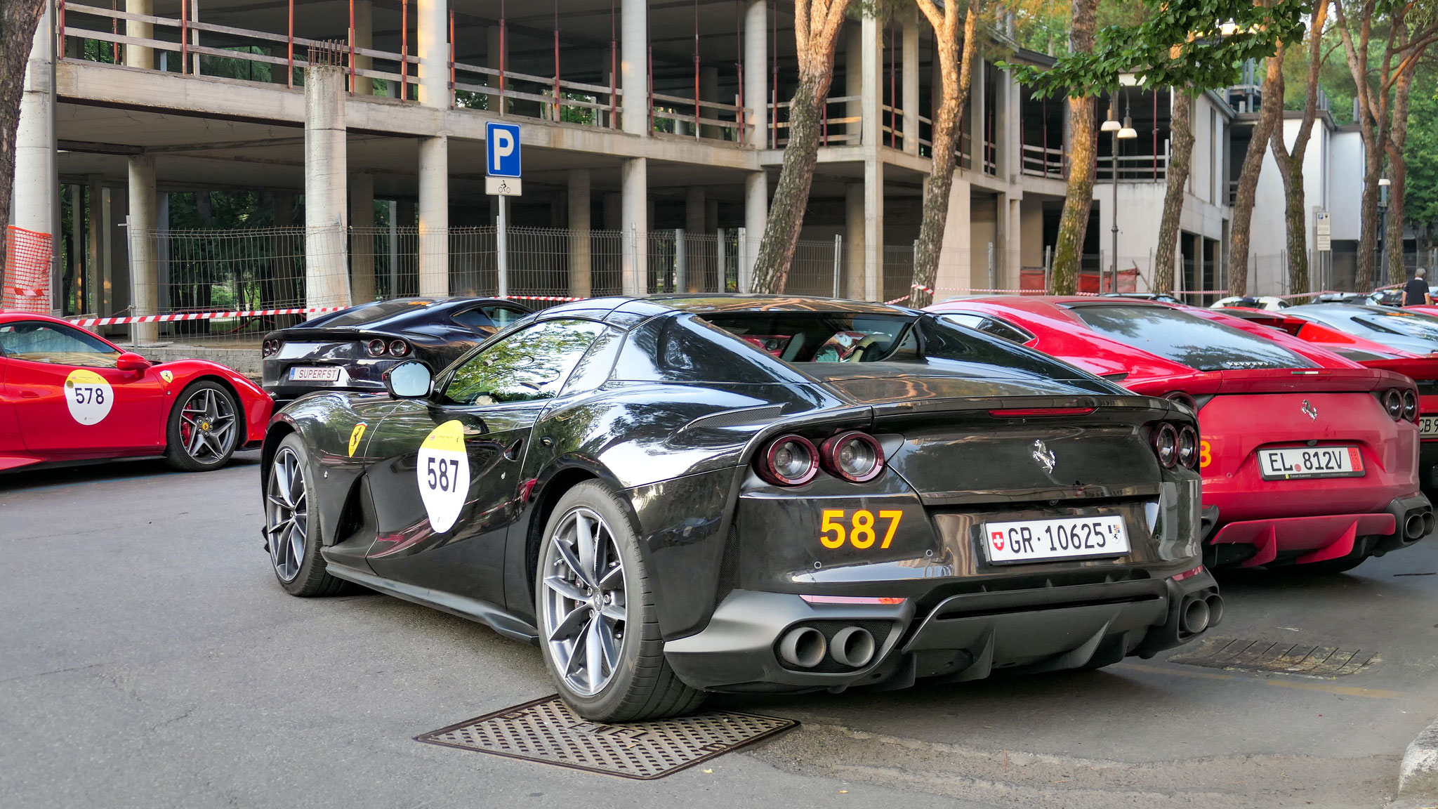
[[[406,360],[439,370],[529,314],[499,298],[395,298],[321,315],[265,335],[263,387],[283,407],[315,390],[384,393]]]

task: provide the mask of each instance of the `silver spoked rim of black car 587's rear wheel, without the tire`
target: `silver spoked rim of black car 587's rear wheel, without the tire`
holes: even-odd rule
[[[614,678],[628,602],[624,561],[604,518],[580,505],[559,520],[544,559],[542,622],[567,688],[594,697]]]

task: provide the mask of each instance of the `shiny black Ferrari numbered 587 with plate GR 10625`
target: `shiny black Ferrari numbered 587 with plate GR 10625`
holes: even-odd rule
[[[1192,412],[928,312],[581,301],[385,381],[272,420],[280,586],[536,643],[592,720],[1097,668],[1221,615]]]

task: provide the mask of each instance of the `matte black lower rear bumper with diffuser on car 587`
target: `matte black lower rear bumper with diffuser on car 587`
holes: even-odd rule
[[[791,593],[735,590],[702,632],[667,642],[664,655],[680,679],[707,691],[903,688],[916,678],[965,681],[995,669],[1040,672],[1148,658],[1192,641],[1222,616],[1218,584],[1206,570],[1178,582],[965,593],[922,616],[913,605],[810,603]],[[1199,613],[1204,626],[1189,632]],[[824,652],[801,666],[784,659],[784,642],[805,628],[824,636],[810,649]],[[848,628],[874,641],[863,665],[835,659],[847,656],[835,654],[835,638],[843,641]]]

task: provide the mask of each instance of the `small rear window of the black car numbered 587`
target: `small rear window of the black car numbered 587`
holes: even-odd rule
[[[742,312],[703,320],[785,363],[877,363],[919,357],[912,317]]]

